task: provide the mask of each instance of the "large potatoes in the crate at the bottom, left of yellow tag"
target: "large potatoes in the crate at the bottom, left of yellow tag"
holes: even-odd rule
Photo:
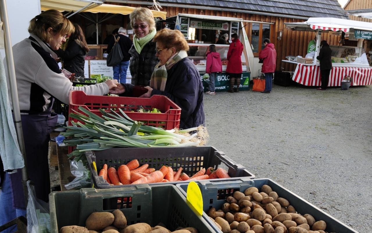
[[[127,226],[126,218],[121,210],[110,212],[94,212],[85,221],[85,227],[65,226],[60,233],[198,233],[193,227],[179,227],[171,232],[162,223],[151,227],[147,223],[136,223]]]

